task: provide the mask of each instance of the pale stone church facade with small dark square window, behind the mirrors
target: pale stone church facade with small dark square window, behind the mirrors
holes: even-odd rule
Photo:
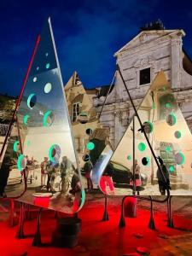
[[[163,70],[172,84],[174,96],[192,131],[192,61],[183,50],[183,30],[147,30],[137,36],[115,54],[116,63],[130,90],[137,107],[157,73]],[[94,98],[94,106],[100,113],[105,96]],[[100,121],[110,130],[110,141],[116,147],[131,119],[133,109],[125,86],[115,73],[113,90],[108,94]]]

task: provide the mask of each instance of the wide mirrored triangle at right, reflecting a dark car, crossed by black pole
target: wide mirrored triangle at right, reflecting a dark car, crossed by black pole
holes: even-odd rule
[[[158,73],[154,79],[137,112],[171,188],[171,195],[192,195],[192,136],[163,72]],[[102,191],[108,195],[132,195],[135,143],[137,192],[140,195],[165,195],[164,178],[158,170],[137,117],[134,120],[133,124],[132,119],[103,173],[100,181]],[[110,188],[113,193],[108,192]]]

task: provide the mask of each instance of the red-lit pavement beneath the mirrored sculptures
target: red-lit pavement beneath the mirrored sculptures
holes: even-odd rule
[[[8,228],[5,218],[8,213],[0,214],[0,255],[131,255],[137,247],[147,247],[150,255],[192,255],[192,198],[176,197],[172,201],[175,229],[166,227],[166,204],[154,204],[154,221],[156,230],[148,229],[148,202],[138,202],[137,218],[126,218],[126,227],[119,229],[120,198],[108,201],[109,221],[102,222],[103,197],[87,196],[87,201],[79,212],[82,218],[82,231],[79,245],[73,249],[54,248],[49,245],[51,233],[55,230],[54,212],[44,211],[41,222],[44,247],[32,247],[32,235],[35,232],[36,219],[25,222],[25,239],[15,239],[18,226]],[[5,205],[5,208],[8,207]],[[37,216],[34,211],[33,216]],[[0,209],[2,212],[3,209]],[[139,238],[140,237],[140,238]],[[24,255],[24,254],[23,254]],[[134,254],[132,254],[134,255]],[[140,254],[135,254],[140,255]]]

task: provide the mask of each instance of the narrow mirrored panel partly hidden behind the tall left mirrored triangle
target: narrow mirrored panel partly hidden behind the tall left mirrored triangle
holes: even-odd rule
[[[91,90],[84,89],[78,73],[73,73],[67,82],[65,93],[84,188],[87,193],[96,193],[99,192],[98,182],[92,180],[91,174],[96,172],[95,165],[98,167],[96,162],[100,162],[104,148],[110,148],[109,129],[100,123],[96,108],[93,107],[93,94]]]

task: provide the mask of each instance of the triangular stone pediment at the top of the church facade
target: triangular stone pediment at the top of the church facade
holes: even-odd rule
[[[135,38],[132,38],[131,41],[125,44],[124,47],[119,49],[114,56],[119,55],[120,53],[128,50],[136,48],[137,46],[143,45],[145,43],[149,43],[157,38],[162,38],[165,36],[174,36],[174,35],[181,35],[184,36],[185,33],[183,30],[153,30],[153,31],[143,31],[137,34]]]

